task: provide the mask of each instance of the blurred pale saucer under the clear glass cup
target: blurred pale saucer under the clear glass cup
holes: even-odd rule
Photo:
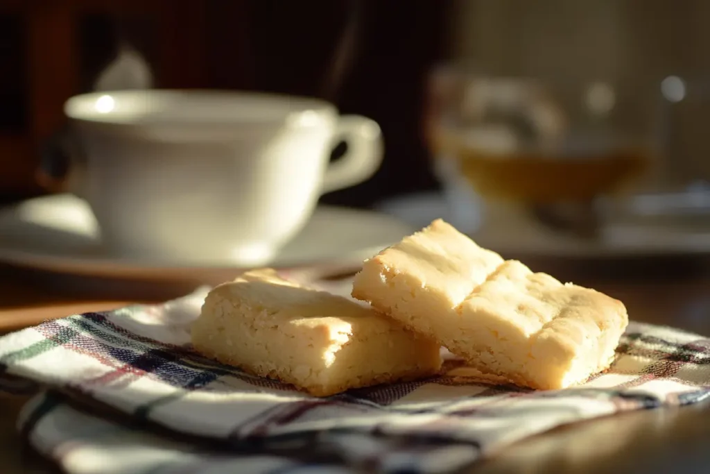
[[[623,259],[638,257],[710,256],[710,220],[657,220],[626,212],[611,215],[597,239],[562,235],[524,217],[498,210],[481,215],[474,203],[454,209],[439,193],[387,200],[376,206],[413,227],[441,217],[484,247],[507,258]],[[464,212],[465,211],[465,212]],[[497,222],[491,222],[497,221]]]

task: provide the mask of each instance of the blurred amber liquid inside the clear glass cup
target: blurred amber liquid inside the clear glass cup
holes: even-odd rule
[[[616,193],[650,162],[643,146],[601,141],[524,146],[439,133],[433,143],[439,159],[456,159],[461,175],[484,198],[537,204]]]

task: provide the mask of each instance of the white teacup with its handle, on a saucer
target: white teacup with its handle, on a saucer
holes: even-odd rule
[[[193,264],[267,264],[322,193],[369,178],[378,125],[318,99],[130,90],[65,104],[70,190],[116,252]],[[329,164],[339,141],[346,154]]]

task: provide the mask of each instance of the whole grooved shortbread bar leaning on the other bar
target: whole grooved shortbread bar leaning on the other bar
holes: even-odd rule
[[[535,389],[605,370],[628,324],[620,301],[503,262],[442,221],[366,261],[352,296],[435,338],[481,378]]]

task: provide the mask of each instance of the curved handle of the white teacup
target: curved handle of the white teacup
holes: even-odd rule
[[[348,150],[325,171],[322,194],[362,183],[382,163],[382,132],[374,120],[361,115],[343,115],[335,136],[337,141],[346,142]]]

